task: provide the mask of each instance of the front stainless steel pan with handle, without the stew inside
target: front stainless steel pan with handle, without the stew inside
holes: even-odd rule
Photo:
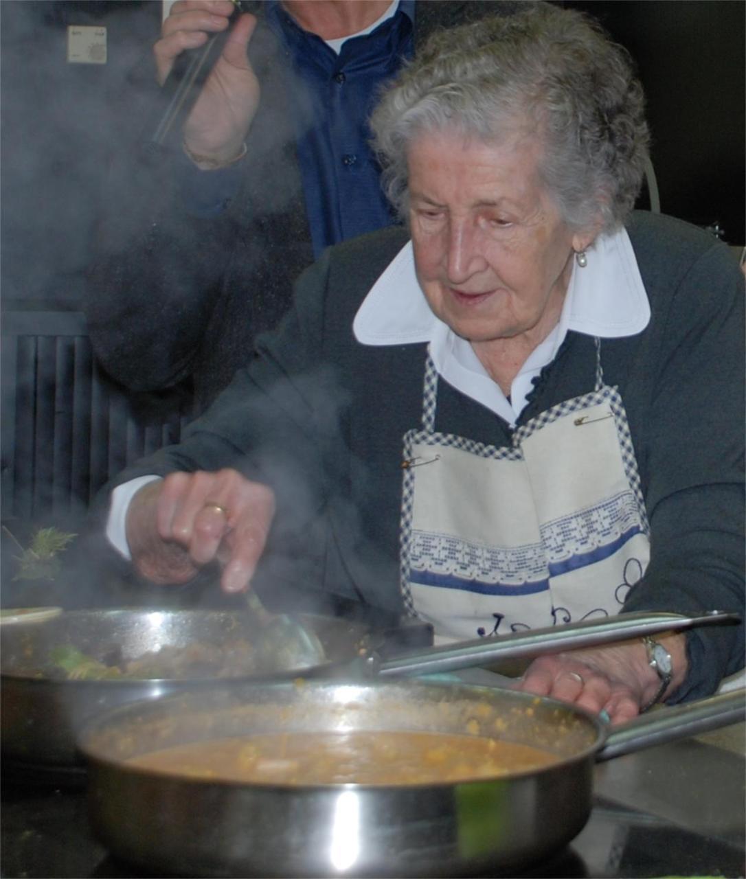
[[[222,688],[128,706],[80,739],[93,830],[113,854],[165,874],[515,875],[581,831],[593,767],[733,723],[743,694],[662,708],[611,733],[580,708],[486,686],[406,681]],[[496,727],[497,722],[497,727]],[[558,755],[525,774],[401,787],[200,781],[128,766],[187,741],[284,731],[482,734]]]

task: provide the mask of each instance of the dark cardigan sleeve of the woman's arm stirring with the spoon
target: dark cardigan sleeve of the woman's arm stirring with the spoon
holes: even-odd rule
[[[99,526],[113,488],[137,476],[237,469],[275,493],[260,577],[272,571],[311,590],[321,582],[325,498],[333,479],[326,468],[335,458],[325,448],[340,435],[345,404],[320,345],[327,265],[321,258],[304,274],[281,325],[261,339],[252,362],[188,425],[179,444],[137,461],[102,490],[94,512]]]

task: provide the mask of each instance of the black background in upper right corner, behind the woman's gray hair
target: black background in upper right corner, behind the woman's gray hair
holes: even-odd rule
[[[718,224],[746,243],[746,4],[740,0],[566,0],[638,65],[663,214]]]

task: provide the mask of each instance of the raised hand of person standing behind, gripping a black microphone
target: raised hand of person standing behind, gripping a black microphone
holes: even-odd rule
[[[160,84],[179,54],[204,46],[214,33],[229,27],[234,10],[230,0],[177,0],[153,47]],[[229,162],[243,148],[260,99],[259,81],[246,52],[256,24],[249,13],[238,18],[189,114],[184,142],[196,156]]]

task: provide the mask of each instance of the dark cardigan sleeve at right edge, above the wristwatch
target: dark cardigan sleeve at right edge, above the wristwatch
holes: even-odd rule
[[[717,243],[660,275],[644,265],[654,307],[657,287],[673,287],[673,295],[658,309],[640,358],[651,558],[625,611],[743,614],[742,274]],[[743,632],[743,624],[692,630],[688,676],[669,701],[712,694],[742,668]]]

